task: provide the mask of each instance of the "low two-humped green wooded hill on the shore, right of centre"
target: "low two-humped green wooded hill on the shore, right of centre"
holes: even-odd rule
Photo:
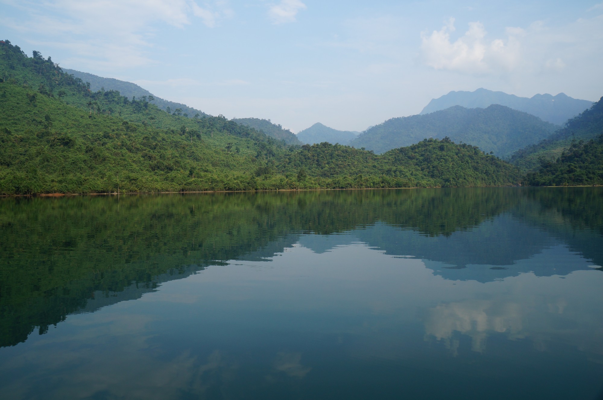
[[[383,155],[326,142],[303,145],[277,167],[285,173],[303,168],[316,177],[317,189],[502,186],[519,179],[505,161],[449,138],[426,139]]]

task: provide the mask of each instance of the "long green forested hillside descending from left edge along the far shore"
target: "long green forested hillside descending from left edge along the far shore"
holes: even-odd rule
[[[517,169],[470,145],[425,140],[391,154],[288,146],[223,116],[160,110],[0,41],[0,193],[500,186]]]

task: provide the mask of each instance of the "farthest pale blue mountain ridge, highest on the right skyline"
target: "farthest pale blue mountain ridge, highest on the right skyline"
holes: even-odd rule
[[[440,98],[432,99],[423,108],[421,115],[445,110],[453,105],[461,105],[465,108],[486,108],[491,104],[505,105],[514,110],[535,115],[542,120],[563,125],[568,119],[593,105],[593,102],[574,99],[564,93],[556,96],[545,93],[526,98],[479,88],[473,92],[453,91]]]

